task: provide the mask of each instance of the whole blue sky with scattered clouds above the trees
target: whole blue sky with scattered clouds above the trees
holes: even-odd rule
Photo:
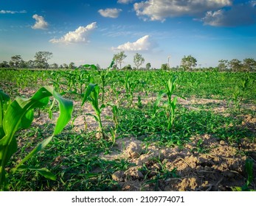
[[[256,1],[236,0],[1,0],[0,62],[14,55],[49,63],[99,64],[125,51],[160,68],[192,55],[198,67],[218,60],[256,60]],[[142,65],[142,66],[145,66]]]

